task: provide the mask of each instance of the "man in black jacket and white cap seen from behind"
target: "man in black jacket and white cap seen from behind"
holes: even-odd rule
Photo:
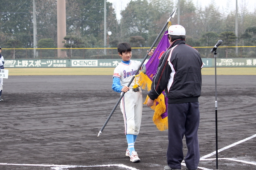
[[[188,153],[185,163],[188,170],[196,170],[199,163],[199,102],[203,63],[198,51],[185,44],[185,28],[171,25],[168,28],[170,47],[162,55],[158,70],[148,92],[147,106],[165,90],[168,97],[168,149],[164,170],[181,169],[184,158],[182,139],[185,135]]]

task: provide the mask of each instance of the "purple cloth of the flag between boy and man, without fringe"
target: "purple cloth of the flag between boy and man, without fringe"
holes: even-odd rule
[[[168,31],[165,31],[162,39],[160,40],[156,49],[154,50],[152,57],[150,57],[150,59],[146,63],[146,75],[148,76],[148,78],[150,78],[150,80],[152,80],[153,76],[156,74],[156,70],[158,68],[160,58],[162,57],[163,53],[170,46],[170,43],[168,41],[168,35],[166,35],[167,33],[168,33]],[[162,92],[162,93],[164,94],[164,92]],[[164,94],[164,96],[165,96],[165,94]],[[164,100],[165,100],[165,105],[166,105],[166,112],[164,112],[161,115],[162,119],[164,119],[168,115],[167,114],[168,113],[167,112],[168,98],[165,97]]]

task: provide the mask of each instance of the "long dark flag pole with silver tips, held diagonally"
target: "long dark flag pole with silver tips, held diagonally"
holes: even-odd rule
[[[174,12],[172,12],[172,14],[170,15],[170,18],[166,21],[166,23],[164,24],[164,27],[162,28],[162,30],[160,31],[160,33],[158,34],[158,36],[156,37],[156,40],[154,41],[154,43],[152,44],[152,46],[150,47],[149,51],[151,51],[154,46],[156,45],[156,42],[158,41],[159,37],[162,35],[162,33],[164,32],[166,26],[168,25],[169,21],[171,20],[171,18],[174,18],[174,15],[176,13],[177,8],[174,10]],[[148,53],[146,54],[146,56],[144,57],[143,61],[141,62],[139,68],[136,70],[134,75],[137,75],[140,68],[142,67],[142,65],[144,64],[144,62],[146,61],[146,59],[148,58]],[[127,85],[128,87],[132,84],[132,81],[134,80],[134,76],[132,77],[132,80],[130,80],[129,84]],[[112,109],[110,115],[108,116],[108,119],[105,121],[104,125],[102,126],[102,128],[100,129],[99,133],[98,133],[98,137],[101,135],[103,129],[105,128],[105,126],[107,125],[110,117],[112,116],[112,114],[114,113],[114,111],[116,110],[116,107],[118,106],[118,104],[120,103],[120,101],[122,100],[122,98],[124,97],[124,92],[122,92],[122,95],[120,96],[120,98],[118,99],[118,101],[116,102],[116,105],[114,106],[114,108]]]

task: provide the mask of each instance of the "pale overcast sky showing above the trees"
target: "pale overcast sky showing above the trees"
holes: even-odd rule
[[[113,4],[113,7],[116,10],[116,17],[118,20],[120,20],[120,11],[124,10],[128,2],[130,0],[107,0],[108,2],[111,2]],[[177,0],[176,0],[177,1]],[[202,8],[205,6],[208,6],[212,0],[192,0],[194,4],[196,5],[201,4]],[[224,10],[227,6],[230,10],[236,10],[236,0],[214,0],[216,3],[216,6],[220,10]],[[246,6],[249,12],[255,11],[256,9],[256,0],[238,0],[238,10],[240,6]]]

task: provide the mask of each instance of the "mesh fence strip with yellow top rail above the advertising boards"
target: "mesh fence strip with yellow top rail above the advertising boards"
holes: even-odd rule
[[[214,58],[211,53],[212,47],[194,47],[199,51],[202,58]],[[133,59],[143,59],[146,51],[150,47],[132,48]],[[74,48],[60,49],[65,51],[66,56],[60,56],[62,59],[120,59],[117,48]],[[256,58],[256,46],[239,46],[239,47],[218,47],[218,58]],[[58,49],[2,49],[4,59],[58,59]]]

